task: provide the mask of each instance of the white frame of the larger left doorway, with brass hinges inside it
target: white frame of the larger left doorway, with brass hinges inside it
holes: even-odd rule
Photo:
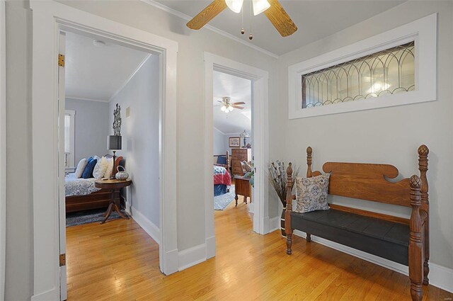
[[[60,30],[102,36],[161,57],[159,116],[160,242],[163,273],[178,271],[176,232],[176,63],[178,43],[54,1],[33,10],[33,237],[32,300],[59,299],[59,166],[57,55]]]

